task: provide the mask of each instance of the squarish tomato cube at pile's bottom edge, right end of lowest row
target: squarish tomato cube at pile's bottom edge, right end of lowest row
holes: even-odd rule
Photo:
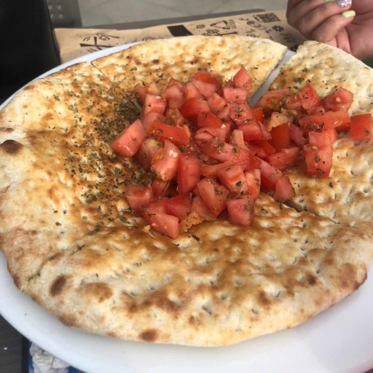
[[[229,222],[249,226],[254,218],[254,198],[251,195],[231,197],[227,201]]]

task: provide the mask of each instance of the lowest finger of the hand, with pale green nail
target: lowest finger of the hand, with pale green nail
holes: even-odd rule
[[[320,41],[321,43],[328,43],[334,39],[339,31],[349,25],[355,16],[353,10],[344,12],[328,18],[322,25],[316,28],[312,34],[311,39]]]

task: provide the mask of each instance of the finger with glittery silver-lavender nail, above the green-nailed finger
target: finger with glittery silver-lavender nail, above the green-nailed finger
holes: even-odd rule
[[[321,26],[332,16],[341,14],[351,7],[351,3],[344,7],[338,6],[335,2],[327,2],[318,6],[307,15],[303,16],[297,23],[296,27],[305,37],[310,38],[313,30]],[[330,40],[330,39],[329,39]]]

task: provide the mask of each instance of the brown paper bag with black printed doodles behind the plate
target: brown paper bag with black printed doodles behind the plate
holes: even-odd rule
[[[286,11],[264,11],[237,16],[160,25],[144,29],[55,29],[62,62],[99,50],[136,41],[186,35],[247,35],[268,38],[295,50],[305,38],[286,22]]]

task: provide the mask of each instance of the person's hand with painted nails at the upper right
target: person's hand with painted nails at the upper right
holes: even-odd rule
[[[307,39],[373,57],[372,0],[289,0],[286,17]]]

